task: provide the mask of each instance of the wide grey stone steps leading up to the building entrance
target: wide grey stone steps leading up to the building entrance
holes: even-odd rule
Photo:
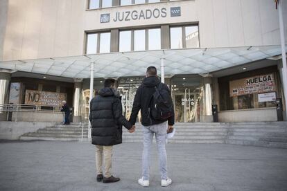
[[[123,127],[123,142],[141,142],[142,127],[136,125],[133,134]],[[287,122],[194,122],[176,123],[176,133],[168,143],[222,143],[287,148]],[[83,140],[87,141],[87,123]],[[79,123],[55,125],[24,134],[20,140],[80,141]]]

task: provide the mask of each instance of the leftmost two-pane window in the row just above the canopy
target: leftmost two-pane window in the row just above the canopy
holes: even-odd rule
[[[110,53],[110,42],[111,33],[87,34],[86,54]]]

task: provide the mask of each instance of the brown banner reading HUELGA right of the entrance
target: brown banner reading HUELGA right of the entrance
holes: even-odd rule
[[[270,91],[276,91],[275,78],[272,73],[229,82],[230,97]]]

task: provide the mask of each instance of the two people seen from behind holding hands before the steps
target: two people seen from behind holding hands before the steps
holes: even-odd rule
[[[149,186],[150,149],[153,144],[153,136],[157,143],[159,155],[159,171],[161,173],[162,186],[171,184],[167,174],[166,160],[166,136],[173,131],[175,122],[171,91],[166,84],[160,82],[157,77],[157,69],[154,66],[146,70],[146,78],[137,89],[132,104],[130,120],[123,116],[121,98],[115,89],[115,80],[107,79],[105,87],[90,102],[89,120],[92,125],[92,144],[96,145],[96,174],[97,181],[114,183],[119,178],[112,176],[112,146],[122,143],[122,127],[130,133],[135,131],[137,115],[141,111],[141,125],[143,128],[143,154],[142,176],[138,180],[139,185]],[[166,128],[168,125],[168,128]],[[103,171],[103,160],[105,170]],[[103,176],[103,172],[105,172]]]

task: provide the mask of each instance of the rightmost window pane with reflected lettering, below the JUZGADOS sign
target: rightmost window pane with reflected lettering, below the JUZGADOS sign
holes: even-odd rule
[[[186,48],[199,47],[198,26],[186,26],[185,35]]]

